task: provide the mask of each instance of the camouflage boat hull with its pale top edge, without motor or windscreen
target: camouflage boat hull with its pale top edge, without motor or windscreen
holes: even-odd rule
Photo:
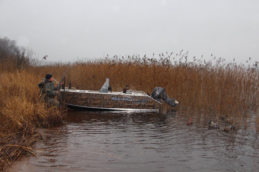
[[[158,111],[161,103],[146,95],[146,93],[120,93],[98,91],[66,91],[60,90],[59,101],[66,105],[86,107],[100,110],[135,110]]]

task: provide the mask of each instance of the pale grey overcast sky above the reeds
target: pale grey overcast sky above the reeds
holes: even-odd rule
[[[39,60],[189,51],[258,61],[258,0],[0,0],[0,37]],[[39,55],[38,55],[39,54]],[[172,56],[171,56],[172,57]]]

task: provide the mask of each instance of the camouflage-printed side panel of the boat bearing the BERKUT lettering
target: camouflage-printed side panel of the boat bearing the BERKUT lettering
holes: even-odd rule
[[[65,91],[61,101],[82,107],[158,110],[161,104],[148,96],[109,95]]]

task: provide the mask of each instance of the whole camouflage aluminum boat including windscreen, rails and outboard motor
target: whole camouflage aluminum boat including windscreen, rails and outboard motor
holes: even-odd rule
[[[71,87],[71,83],[69,85],[70,87],[60,89],[59,98],[60,102],[69,106],[97,110],[158,111],[163,102],[172,107],[178,104],[161,87],[156,87],[152,95],[149,95],[144,91],[127,90],[128,85],[121,92],[113,92],[108,78],[99,91],[78,90]]]

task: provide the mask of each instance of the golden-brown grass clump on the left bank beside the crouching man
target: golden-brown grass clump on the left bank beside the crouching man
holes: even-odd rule
[[[38,127],[53,126],[64,113],[47,107],[39,99],[40,79],[33,71],[0,74],[0,169],[20,156],[31,153],[33,142],[40,139]],[[37,79],[36,79],[37,78]]]

